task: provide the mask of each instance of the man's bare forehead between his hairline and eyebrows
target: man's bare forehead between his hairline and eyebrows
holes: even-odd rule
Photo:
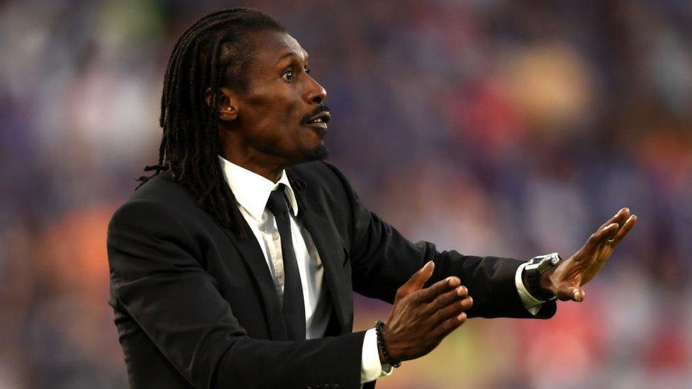
[[[260,67],[274,67],[291,59],[308,59],[308,52],[288,33],[262,31],[255,33],[252,40],[255,44],[254,62]]]

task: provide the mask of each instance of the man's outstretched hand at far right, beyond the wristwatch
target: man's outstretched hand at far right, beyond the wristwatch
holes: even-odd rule
[[[610,220],[598,227],[586,244],[567,261],[550,269],[541,278],[541,287],[560,300],[584,301],[584,286],[596,276],[605,261],[610,258],[615,246],[632,230],[637,215],[630,215],[627,208],[621,209]]]

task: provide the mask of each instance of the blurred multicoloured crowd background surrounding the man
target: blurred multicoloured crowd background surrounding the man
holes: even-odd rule
[[[0,388],[126,387],[106,225],[157,158],[175,40],[238,5],[310,52],[331,161],[410,239],[569,256],[640,218],[584,303],[471,320],[378,388],[692,387],[692,2],[0,4]]]

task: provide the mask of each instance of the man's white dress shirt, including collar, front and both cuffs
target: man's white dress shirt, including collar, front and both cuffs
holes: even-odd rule
[[[279,296],[284,294],[284,262],[281,256],[281,238],[279,237],[277,221],[274,219],[274,215],[267,210],[267,200],[269,200],[269,194],[274,189],[279,188],[280,184],[286,186],[284,192],[291,208],[289,213],[291,237],[298,261],[298,272],[303,284],[306,339],[323,337],[329,322],[331,301],[328,298],[328,291],[323,285],[324,269],[320,254],[317,252],[310,233],[303,228],[301,221],[296,218],[298,216],[298,202],[288,177],[284,171],[281,171],[281,178],[277,183],[274,183],[221,156],[218,159],[225,180],[233,191],[235,200],[238,201],[240,213],[250,225],[250,230],[257,238],[259,247],[262,248],[262,254],[267,261],[267,266],[274,280],[274,287],[277,288],[277,295]],[[526,291],[521,280],[521,271],[524,266],[525,264],[517,269],[515,283],[525,307],[535,315],[540,310],[542,301],[536,300]],[[391,371],[391,366],[382,366],[379,361],[375,329],[368,329],[363,340],[361,383],[376,380],[381,376],[389,376]]]

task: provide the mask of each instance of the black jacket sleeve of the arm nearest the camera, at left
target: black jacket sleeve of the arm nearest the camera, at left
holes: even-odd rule
[[[197,260],[203,245],[163,205],[134,200],[108,226],[111,294],[195,388],[359,388],[364,332],[251,339]]]

